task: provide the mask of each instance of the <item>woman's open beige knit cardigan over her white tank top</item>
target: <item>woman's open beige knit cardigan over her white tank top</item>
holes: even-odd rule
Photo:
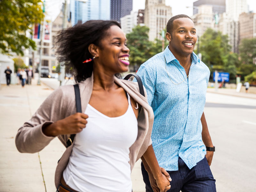
[[[148,146],[151,145],[151,131],[154,122],[154,113],[148,105],[147,96],[143,97],[139,92],[138,83],[118,79],[115,77],[115,83],[123,89],[141,106],[138,115],[138,136],[136,141],[130,147],[130,165],[133,168],[135,162],[145,153]],[[79,83],[82,111],[85,111],[89,103],[93,87],[93,75],[85,81]],[[144,88],[146,94],[146,90]],[[42,132],[42,127],[64,119],[76,113],[75,91],[73,85],[61,86],[44,100],[43,104],[37,109],[32,118],[23,124],[18,130],[15,143],[21,153],[36,153],[47,146],[54,137],[48,137]],[[66,146],[70,135],[59,135],[58,138]],[[69,146],[62,155],[56,171],[56,188],[64,169],[66,168],[71,155],[73,144]],[[57,161],[57,160],[56,160]]]

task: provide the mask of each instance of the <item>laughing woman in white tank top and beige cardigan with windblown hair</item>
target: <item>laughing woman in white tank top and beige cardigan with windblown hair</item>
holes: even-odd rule
[[[120,24],[90,20],[62,30],[57,45],[59,61],[74,69],[79,82],[83,113],[76,113],[73,86],[60,87],[19,129],[18,150],[35,153],[56,136],[65,145],[76,134],[56,168],[60,192],[131,192],[131,170],[140,157],[149,164],[159,191],[167,191],[171,178],[160,170],[151,145],[153,111],[137,83],[116,77],[129,66]]]

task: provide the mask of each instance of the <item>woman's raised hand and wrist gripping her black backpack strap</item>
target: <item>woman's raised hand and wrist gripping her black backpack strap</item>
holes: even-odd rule
[[[81,132],[87,124],[88,115],[84,113],[75,113],[71,116],[56,121],[46,127],[42,131],[46,136],[58,136],[67,134],[76,134]]]

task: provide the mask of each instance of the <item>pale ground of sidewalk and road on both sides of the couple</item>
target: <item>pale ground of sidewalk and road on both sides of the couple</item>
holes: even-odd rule
[[[26,85],[25,88],[20,85],[1,86],[1,192],[43,192],[45,188],[48,192],[56,190],[54,172],[65,150],[60,141],[52,140],[36,154],[21,154],[15,147],[19,127],[53,91],[50,87],[56,88],[59,83],[53,78],[41,78],[41,81],[41,86],[36,85],[36,80],[33,80],[33,85]],[[226,91],[230,94],[235,92],[234,89]],[[212,92],[206,95],[204,113],[212,142],[216,146],[211,169],[218,192],[256,191],[256,96],[251,94],[251,98],[245,98],[241,97],[242,93],[237,96]],[[140,162],[132,171],[132,183],[134,192],[145,191]]]

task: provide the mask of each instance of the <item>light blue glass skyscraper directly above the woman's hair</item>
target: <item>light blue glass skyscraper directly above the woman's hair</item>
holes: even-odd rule
[[[70,0],[69,9],[72,26],[88,20],[110,20],[110,0]]]

